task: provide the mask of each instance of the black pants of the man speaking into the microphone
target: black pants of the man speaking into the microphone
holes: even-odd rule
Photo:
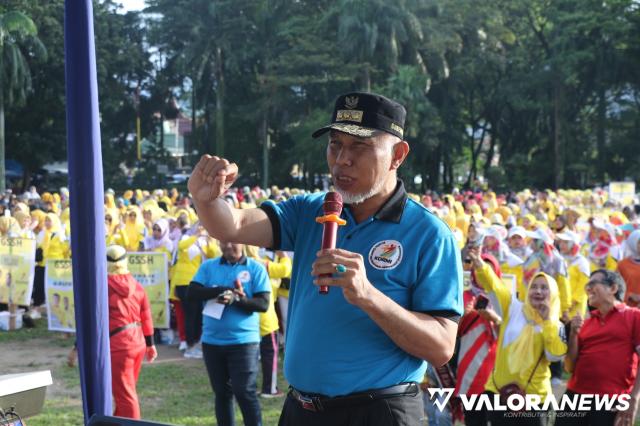
[[[416,426],[426,424],[422,393],[384,398],[365,404],[313,412],[291,395],[284,402],[278,426]]]

